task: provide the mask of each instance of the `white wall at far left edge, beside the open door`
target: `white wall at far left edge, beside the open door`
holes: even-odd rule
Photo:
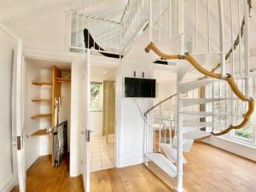
[[[11,91],[15,41],[0,29],[0,42],[0,191],[8,192],[14,185]]]

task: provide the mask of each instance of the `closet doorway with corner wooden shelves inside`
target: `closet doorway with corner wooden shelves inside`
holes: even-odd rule
[[[26,170],[43,156],[49,157],[45,166],[58,167],[69,161],[71,63],[28,58],[25,63]]]

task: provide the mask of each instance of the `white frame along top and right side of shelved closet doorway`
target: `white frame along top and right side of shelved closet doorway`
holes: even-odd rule
[[[46,60],[46,61],[59,61],[69,62],[72,67],[72,77],[76,77],[76,72],[79,71],[78,66],[84,61],[84,55],[79,55],[70,52],[57,52],[45,49],[25,49],[24,55],[26,59]],[[79,149],[81,147],[78,108],[79,103],[76,102],[78,79],[72,78],[71,80],[71,122],[70,122],[70,177],[77,177],[81,174],[81,156]],[[79,140],[79,141],[77,141]]]

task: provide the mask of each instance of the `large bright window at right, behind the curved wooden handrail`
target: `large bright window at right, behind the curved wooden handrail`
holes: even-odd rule
[[[255,81],[252,78],[248,80],[248,95],[253,96],[256,91]],[[246,81],[245,79],[237,79],[236,84],[238,88],[245,93]],[[207,103],[207,111],[212,111],[212,117],[208,120],[214,122],[214,132],[223,131],[229,125],[238,125],[243,119],[243,114],[247,112],[247,102],[242,102],[225,82],[214,82],[206,86],[207,98],[219,98],[219,101]],[[241,143],[253,143],[256,145],[255,133],[256,122],[254,122],[255,113],[253,117],[247,123],[247,125],[239,130],[233,130],[227,133],[224,137],[241,141]]]

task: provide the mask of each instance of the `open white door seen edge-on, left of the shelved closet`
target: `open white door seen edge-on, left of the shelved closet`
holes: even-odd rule
[[[25,152],[24,152],[24,136],[23,131],[23,112],[22,102],[24,101],[24,67],[22,56],[22,42],[19,39],[17,49],[14,56],[13,69],[13,123],[16,131],[16,146],[17,146],[17,174],[19,181],[20,192],[26,191],[26,169],[25,169]]]

